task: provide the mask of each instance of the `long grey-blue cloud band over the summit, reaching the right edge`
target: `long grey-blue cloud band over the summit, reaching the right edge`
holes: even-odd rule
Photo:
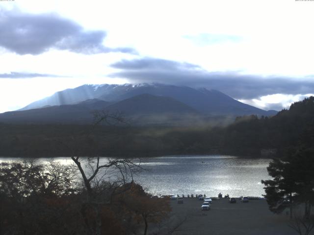
[[[261,77],[238,72],[209,72],[197,65],[156,58],[122,60],[111,65],[121,71],[112,77],[124,77],[131,83],[158,82],[191,87],[206,87],[236,99],[252,99],[267,94],[311,94],[314,81],[307,78]]]

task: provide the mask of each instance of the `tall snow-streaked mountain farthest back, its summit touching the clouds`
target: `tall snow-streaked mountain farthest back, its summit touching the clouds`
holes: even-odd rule
[[[77,104],[88,99],[118,102],[140,94],[170,97],[205,115],[263,115],[272,116],[276,111],[264,111],[241,103],[216,90],[194,89],[164,84],[83,85],[57,92],[50,97],[35,101],[21,110],[41,108],[47,105]]]

